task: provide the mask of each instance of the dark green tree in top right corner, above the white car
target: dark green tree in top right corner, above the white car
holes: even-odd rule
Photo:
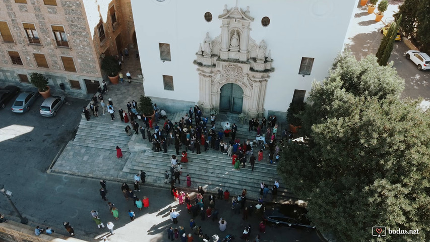
[[[416,40],[421,51],[430,51],[430,2],[428,0],[405,0],[394,15],[401,18],[400,27],[407,37]]]

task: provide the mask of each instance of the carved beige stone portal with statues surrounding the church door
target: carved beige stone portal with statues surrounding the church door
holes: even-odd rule
[[[194,61],[199,72],[199,106],[206,113],[219,110],[221,87],[234,83],[243,90],[242,112],[260,118],[269,73],[274,71],[270,50],[264,40],[257,44],[250,37],[254,18],[249,7],[246,11],[237,6],[228,10],[225,5],[218,19],[222,20],[221,34],[211,40],[206,33]]]

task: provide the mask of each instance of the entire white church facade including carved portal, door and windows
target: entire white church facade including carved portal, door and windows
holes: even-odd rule
[[[145,94],[262,117],[304,101],[342,51],[355,0],[133,1]]]

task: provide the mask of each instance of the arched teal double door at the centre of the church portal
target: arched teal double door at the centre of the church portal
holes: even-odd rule
[[[219,96],[219,110],[221,112],[242,112],[243,90],[234,83],[227,83],[221,87]]]

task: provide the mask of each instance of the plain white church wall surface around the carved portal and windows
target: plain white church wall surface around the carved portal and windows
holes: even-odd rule
[[[356,0],[238,0],[243,11],[250,6],[250,36],[262,39],[271,50],[275,71],[267,84],[266,110],[286,111],[294,89],[311,89],[312,81],[323,80],[341,51]],[[145,93],[149,96],[197,102],[199,76],[193,64],[199,43],[209,32],[212,40],[221,33],[224,4],[230,10],[236,1],[132,0],[136,36]],[[204,14],[210,12],[212,21]],[[270,18],[263,27],[261,19]],[[160,60],[158,43],[170,44],[171,62]],[[311,75],[298,74],[301,57],[314,57]],[[164,90],[162,75],[173,76],[174,91]]]

